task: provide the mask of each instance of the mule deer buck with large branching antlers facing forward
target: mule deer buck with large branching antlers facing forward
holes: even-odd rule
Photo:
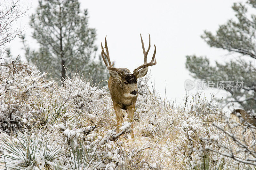
[[[148,51],[150,49],[150,35],[149,35],[149,45],[148,50],[145,51],[144,42],[142,40],[140,34],[142,50],[144,54],[144,63],[140,65],[138,68],[133,70],[131,73],[130,70],[126,68],[115,68],[114,62],[111,64],[107,46],[107,36],[105,38],[105,48],[107,54],[104,52],[104,48],[101,42],[101,56],[103,58],[104,63],[108,68],[108,72],[110,77],[108,79],[108,88],[110,91],[111,99],[113,101],[114,109],[116,112],[116,122],[117,127],[119,128],[124,121],[124,115],[121,109],[126,110],[129,121],[132,122],[135,103],[138,97],[138,87],[137,87],[137,79],[144,77],[148,72],[148,67],[152,65],[156,65],[156,46],[151,62],[147,63]],[[105,57],[108,60],[108,63]],[[132,138],[134,138],[133,133],[133,123],[132,123]]]

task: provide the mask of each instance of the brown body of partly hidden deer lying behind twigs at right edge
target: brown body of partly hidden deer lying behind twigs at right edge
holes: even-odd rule
[[[235,115],[238,118],[238,121],[237,121],[236,117],[234,117],[233,115]],[[256,127],[256,119],[253,116],[249,115],[243,109],[234,109],[234,111],[231,112],[230,117],[232,119],[234,119],[236,122],[240,122],[242,125],[246,125],[247,123],[244,123],[244,122],[248,122]],[[240,120],[239,117],[242,117],[242,119]]]

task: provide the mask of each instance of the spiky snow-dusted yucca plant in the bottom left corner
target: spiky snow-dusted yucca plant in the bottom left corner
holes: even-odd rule
[[[50,137],[44,140],[44,133],[41,136],[19,133],[18,136],[15,141],[8,138],[0,141],[3,150],[0,162],[6,169],[53,169],[62,148],[50,144]]]

